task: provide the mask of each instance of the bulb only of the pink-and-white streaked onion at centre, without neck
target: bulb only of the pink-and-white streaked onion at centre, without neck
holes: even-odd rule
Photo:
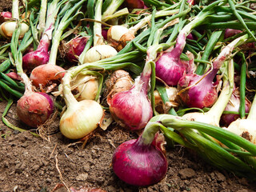
[[[114,94],[107,102],[115,121],[129,130],[141,130],[153,116],[149,98],[135,87]]]

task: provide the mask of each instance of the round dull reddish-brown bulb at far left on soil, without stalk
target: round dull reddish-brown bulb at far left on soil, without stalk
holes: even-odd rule
[[[54,102],[48,94],[30,92],[17,102],[18,118],[28,126],[42,125],[54,112]]]

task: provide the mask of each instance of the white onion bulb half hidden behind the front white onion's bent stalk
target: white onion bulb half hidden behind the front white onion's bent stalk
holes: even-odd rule
[[[84,62],[97,62],[104,58],[111,58],[118,54],[118,51],[114,47],[109,45],[98,45],[90,48],[86,52]]]

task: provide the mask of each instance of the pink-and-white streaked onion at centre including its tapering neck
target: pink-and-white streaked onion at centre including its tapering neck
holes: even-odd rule
[[[146,62],[141,76],[135,79],[130,90],[108,95],[110,113],[120,126],[130,130],[140,130],[152,118],[153,111],[147,97],[150,74],[150,63]]]

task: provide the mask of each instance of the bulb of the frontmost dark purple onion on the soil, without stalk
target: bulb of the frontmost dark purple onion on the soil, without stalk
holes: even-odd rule
[[[142,144],[139,139],[118,146],[113,154],[113,170],[118,178],[130,185],[153,185],[165,177],[168,163],[158,147]]]

